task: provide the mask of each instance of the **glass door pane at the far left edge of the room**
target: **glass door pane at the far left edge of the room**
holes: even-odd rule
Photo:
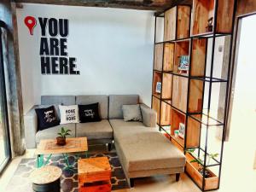
[[[3,21],[0,20],[0,174],[11,159],[3,56],[6,51],[4,42],[7,32],[4,26]]]

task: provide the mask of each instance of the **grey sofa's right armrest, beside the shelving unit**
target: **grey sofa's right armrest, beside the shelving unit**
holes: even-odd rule
[[[155,127],[156,112],[145,104],[140,104],[140,107],[143,115],[143,124],[148,127]]]

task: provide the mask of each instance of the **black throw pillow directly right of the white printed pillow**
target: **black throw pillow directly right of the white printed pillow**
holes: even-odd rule
[[[99,103],[79,105],[79,119],[81,123],[100,121]]]

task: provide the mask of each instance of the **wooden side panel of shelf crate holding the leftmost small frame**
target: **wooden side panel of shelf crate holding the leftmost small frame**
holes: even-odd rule
[[[172,99],[172,74],[163,73],[162,99]]]

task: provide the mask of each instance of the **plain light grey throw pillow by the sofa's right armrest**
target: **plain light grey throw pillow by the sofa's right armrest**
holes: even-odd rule
[[[125,121],[143,121],[140,105],[123,105]]]

